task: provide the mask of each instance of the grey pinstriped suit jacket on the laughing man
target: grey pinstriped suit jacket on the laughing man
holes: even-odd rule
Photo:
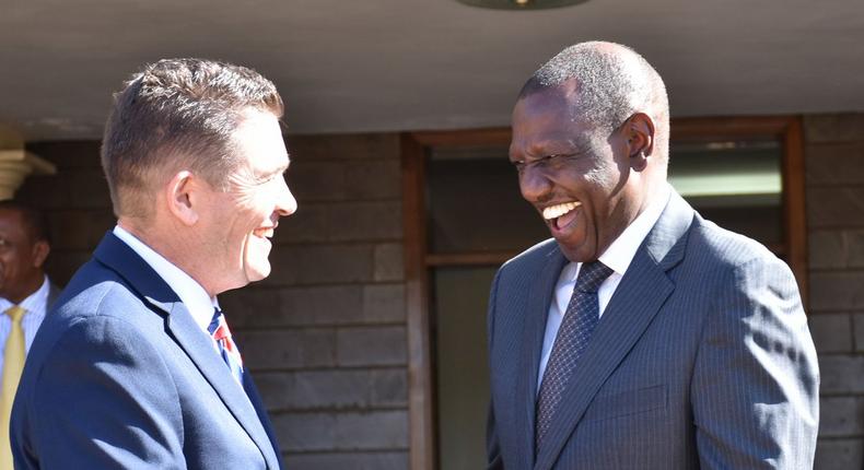
[[[677,193],[606,307],[535,458],[540,348],[565,263],[547,240],[495,275],[489,468],[813,467],[819,374],[795,280]]]

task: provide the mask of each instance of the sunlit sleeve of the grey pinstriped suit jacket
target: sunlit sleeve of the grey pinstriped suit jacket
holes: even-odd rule
[[[767,255],[717,285],[690,397],[701,468],[812,468],[819,372],[792,272]]]

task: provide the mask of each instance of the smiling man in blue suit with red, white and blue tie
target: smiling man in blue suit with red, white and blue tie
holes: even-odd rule
[[[269,274],[268,238],[296,209],[281,114],[257,72],[195,59],[147,66],[116,95],[102,158],[118,225],[34,341],[17,468],[281,466],[235,345],[208,331],[217,294]]]

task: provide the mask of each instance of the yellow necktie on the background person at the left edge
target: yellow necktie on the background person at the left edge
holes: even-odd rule
[[[4,312],[12,319],[12,327],[3,348],[2,390],[0,390],[0,469],[12,469],[12,448],[9,445],[9,416],[15,399],[21,371],[24,369],[24,330],[21,317],[24,309],[17,305]]]

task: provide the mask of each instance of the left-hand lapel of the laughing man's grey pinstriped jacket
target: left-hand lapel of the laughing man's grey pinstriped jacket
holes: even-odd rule
[[[546,262],[540,275],[532,284],[526,309],[523,313],[525,327],[523,328],[522,344],[525,350],[519,355],[522,359],[519,371],[522,371],[522,374],[519,375],[516,395],[517,406],[525,407],[522,413],[517,413],[519,418],[517,428],[522,430],[521,435],[525,436],[522,443],[524,449],[519,453],[525,459],[523,468],[534,466],[534,427],[540,353],[546,331],[546,320],[549,316],[549,304],[552,302],[554,286],[567,262],[568,260],[558,249],[558,245],[554,245],[546,255]]]

